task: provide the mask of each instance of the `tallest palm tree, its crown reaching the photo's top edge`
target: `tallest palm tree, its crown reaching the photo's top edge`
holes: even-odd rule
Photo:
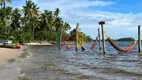
[[[34,40],[34,28],[37,27],[35,22],[37,22],[39,18],[39,7],[37,7],[37,5],[35,5],[31,0],[26,0],[26,6],[23,6],[23,8],[25,31],[30,31]]]

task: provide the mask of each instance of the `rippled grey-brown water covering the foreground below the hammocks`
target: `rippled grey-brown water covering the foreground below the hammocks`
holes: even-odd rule
[[[132,44],[116,43],[123,49]],[[87,43],[85,48],[91,45]],[[106,42],[105,57],[98,45],[94,51],[78,53],[65,48],[59,51],[57,45],[27,48],[29,57],[0,70],[2,80],[22,80],[23,75],[27,80],[142,80],[142,56],[137,52],[137,45],[132,51],[121,53]]]

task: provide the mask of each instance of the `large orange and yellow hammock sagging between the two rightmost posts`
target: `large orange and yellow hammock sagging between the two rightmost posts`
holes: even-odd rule
[[[105,33],[105,32],[104,32]],[[121,49],[120,47],[118,47],[113,41],[112,39],[105,33],[105,36],[107,38],[107,40],[109,41],[109,43],[118,51],[120,52],[128,52],[130,50],[133,49],[133,47],[136,45],[138,39],[136,39],[130,46],[128,46],[125,50]]]

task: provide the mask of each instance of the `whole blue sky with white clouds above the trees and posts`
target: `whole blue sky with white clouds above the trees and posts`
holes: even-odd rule
[[[61,10],[60,16],[71,28],[79,28],[92,38],[98,34],[105,21],[104,30],[114,39],[121,37],[137,38],[137,26],[142,25],[142,0],[32,0],[40,7],[40,11],[56,8]],[[12,0],[9,4],[22,9],[25,0]],[[141,30],[142,31],[142,30]]]

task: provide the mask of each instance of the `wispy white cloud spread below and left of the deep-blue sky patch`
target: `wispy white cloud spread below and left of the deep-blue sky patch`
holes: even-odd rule
[[[99,21],[106,21],[104,28],[113,38],[131,36],[137,37],[137,25],[142,23],[142,13],[133,14],[121,12],[109,12],[90,10],[89,7],[101,7],[115,5],[116,2],[108,0],[33,0],[41,10],[54,11],[60,8],[61,17],[69,22],[72,28],[80,23],[80,28],[87,35],[95,38]],[[20,5],[20,4],[19,4]]]

